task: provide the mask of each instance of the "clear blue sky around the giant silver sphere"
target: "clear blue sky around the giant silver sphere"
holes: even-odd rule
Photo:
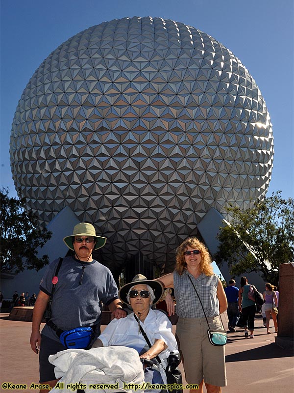
[[[268,196],[294,197],[293,0],[2,0],[0,185],[16,196],[9,161],[11,123],[25,85],[62,42],[115,18],[162,17],[194,26],[237,56],[270,112],[274,166]]]

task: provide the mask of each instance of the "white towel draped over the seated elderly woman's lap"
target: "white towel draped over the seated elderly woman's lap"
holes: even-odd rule
[[[123,384],[144,383],[144,371],[138,352],[124,346],[91,348],[88,351],[66,349],[50,355],[49,362],[55,365],[56,378],[62,377],[58,381],[59,389],[52,389],[52,393],[72,393],[73,389],[67,389],[70,384],[83,384],[87,386],[85,393],[97,393],[102,390],[90,389],[90,384],[115,383],[118,383],[119,389],[107,389],[107,392],[134,392],[135,389],[123,389]],[[64,383],[63,389],[60,389],[60,383]]]

